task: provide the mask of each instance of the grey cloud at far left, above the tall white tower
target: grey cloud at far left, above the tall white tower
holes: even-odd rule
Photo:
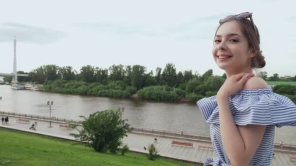
[[[66,38],[64,32],[29,26],[19,23],[0,23],[0,42],[10,42],[17,37],[18,42],[47,44]]]

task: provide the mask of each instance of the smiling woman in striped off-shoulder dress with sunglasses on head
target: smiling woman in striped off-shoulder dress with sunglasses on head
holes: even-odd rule
[[[216,96],[197,102],[210,123],[218,156],[208,158],[204,166],[270,166],[275,126],[296,126],[296,105],[252,73],[265,66],[252,13],[228,16],[219,23],[212,53],[227,78]]]

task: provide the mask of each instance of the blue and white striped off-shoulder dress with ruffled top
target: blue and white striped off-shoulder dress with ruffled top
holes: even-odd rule
[[[223,149],[216,96],[197,101],[206,122],[210,124],[213,148],[218,157],[208,158],[204,166],[231,166]],[[229,97],[229,107],[237,125],[266,125],[262,141],[249,166],[270,166],[273,155],[275,126],[296,126],[296,105],[288,98],[273,93],[272,88],[243,89]]]

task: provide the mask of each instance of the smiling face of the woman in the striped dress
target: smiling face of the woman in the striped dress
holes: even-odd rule
[[[251,58],[254,56],[247,38],[241,32],[240,23],[235,20],[219,27],[212,53],[216,64],[226,72],[251,68]]]

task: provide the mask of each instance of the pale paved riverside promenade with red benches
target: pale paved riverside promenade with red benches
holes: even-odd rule
[[[22,131],[32,132],[32,133],[41,133],[56,137],[62,137],[66,139],[74,139],[69,133],[78,133],[74,129],[60,128],[59,125],[62,123],[52,123],[52,128],[48,128],[49,122],[42,120],[32,120],[28,119],[30,123],[18,123],[17,117],[9,117],[9,124],[2,125],[0,127],[19,129]],[[23,118],[22,118],[23,119]],[[29,127],[37,122],[37,131],[29,130]],[[155,138],[157,141],[155,141]],[[193,144],[193,147],[185,146],[172,146],[171,142],[183,141],[190,142]],[[128,144],[130,150],[148,153],[148,150],[145,150],[144,147],[148,148],[149,144],[154,144],[156,149],[159,151],[161,156],[176,158],[180,160],[186,160],[190,162],[203,163],[207,157],[215,157],[215,152],[211,148],[198,148],[198,145],[211,146],[210,143],[199,142],[194,140],[184,140],[182,138],[169,138],[163,137],[157,134],[147,134],[147,133],[128,133],[128,137],[123,139],[124,144]],[[275,150],[275,156],[273,158],[272,166],[296,166],[296,159],[290,159],[290,156],[296,156],[292,151],[285,150]]]

